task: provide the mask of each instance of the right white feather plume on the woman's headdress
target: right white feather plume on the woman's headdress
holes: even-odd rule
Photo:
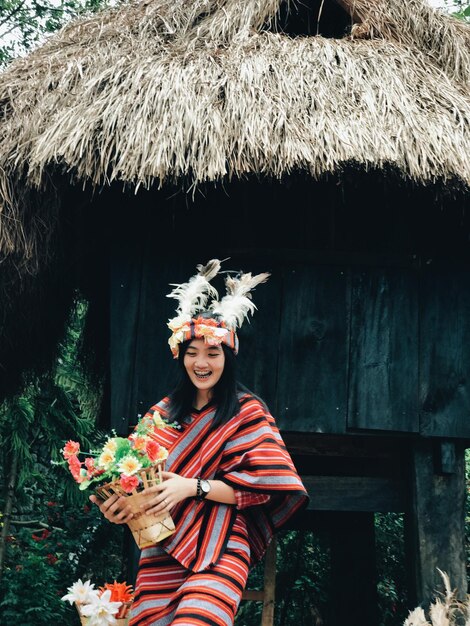
[[[235,330],[240,327],[243,320],[249,313],[256,310],[255,304],[251,301],[250,291],[261,283],[265,283],[270,274],[263,273],[252,276],[251,272],[241,274],[241,276],[225,280],[227,295],[220,302],[213,301],[211,310],[220,315],[227,328]]]

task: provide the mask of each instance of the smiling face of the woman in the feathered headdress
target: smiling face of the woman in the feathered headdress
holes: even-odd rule
[[[225,365],[222,346],[209,346],[204,339],[193,339],[184,355],[188,376],[200,391],[212,389],[218,383]]]

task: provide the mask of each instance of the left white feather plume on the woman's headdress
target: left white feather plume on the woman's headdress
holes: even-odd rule
[[[177,315],[192,317],[195,313],[203,311],[209,297],[217,298],[217,290],[210,284],[210,280],[220,270],[219,259],[212,259],[206,265],[196,267],[198,273],[189,279],[187,283],[173,284],[174,289],[167,294],[167,298],[178,300]]]

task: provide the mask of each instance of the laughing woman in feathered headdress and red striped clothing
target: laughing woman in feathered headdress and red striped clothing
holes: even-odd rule
[[[168,324],[179,380],[149,414],[180,429],[155,430],[170,471],[146,490],[146,513],[171,511],[176,531],[142,550],[131,626],[231,626],[250,566],[308,500],[274,418],[236,378],[235,331],[269,274],[229,277],[227,295],[205,309],[219,269],[217,259],[198,266],[169,294],[179,301]],[[124,499],[99,506],[111,522],[131,519]]]

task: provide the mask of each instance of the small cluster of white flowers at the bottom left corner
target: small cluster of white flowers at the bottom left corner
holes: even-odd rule
[[[67,591],[62,600],[77,604],[81,615],[88,617],[88,626],[117,624],[114,616],[119,612],[122,602],[111,602],[109,589],[100,594],[89,580],[84,583],[77,580]]]

